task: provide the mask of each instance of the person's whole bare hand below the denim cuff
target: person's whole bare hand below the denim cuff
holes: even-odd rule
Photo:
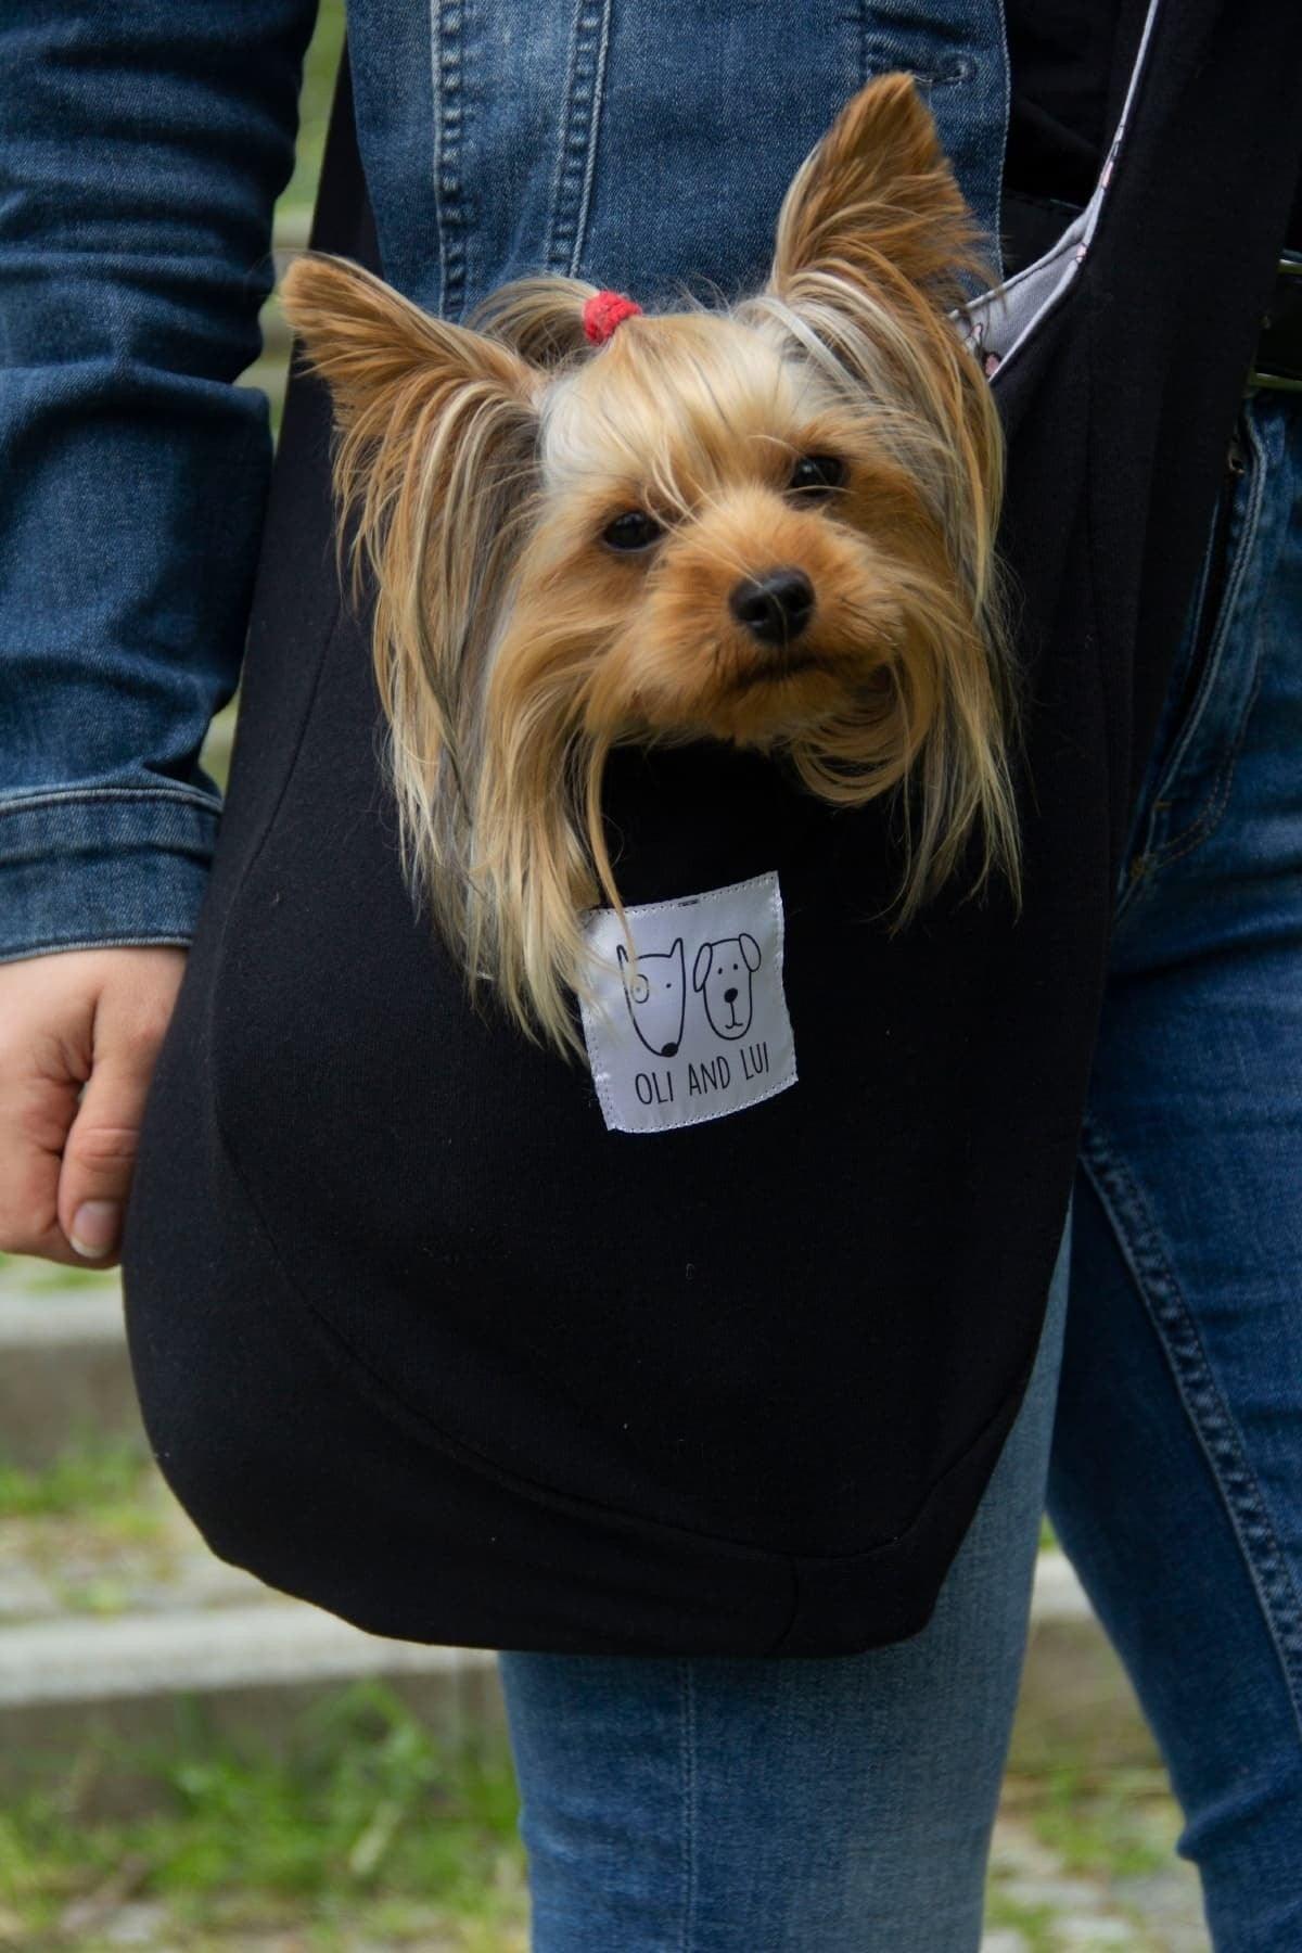
[[[113,1267],[185,951],[0,963],[0,1250]]]

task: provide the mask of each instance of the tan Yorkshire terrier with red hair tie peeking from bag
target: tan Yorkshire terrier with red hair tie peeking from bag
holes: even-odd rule
[[[1003,443],[960,330],[980,246],[886,74],[722,311],[537,275],[453,324],[342,258],[287,270],[353,596],[375,592],[402,867],[527,1035],[584,1055],[568,992],[586,910],[623,922],[601,783],[629,740],[761,748],[837,805],[900,789],[892,930],[972,832],[972,893],[1001,873],[1019,896]]]

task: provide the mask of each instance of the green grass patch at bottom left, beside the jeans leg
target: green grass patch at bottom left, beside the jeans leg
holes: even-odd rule
[[[88,1820],[80,1803],[103,1769],[150,1779],[154,1808]],[[523,1947],[515,1816],[504,1746],[449,1752],[383,1683],[324,1697],[283,1754],[215,1734],[182,1699],[166,1744],[98,1738],[59,1783],[8,1799],[0,1945],[8,1920],[10,1943],[88,1949],[88,1902],[107,1891],[119,1904],[127,1885],[166,1908],[168,1945],[246,1945],[226,1935],[289,1924],[310,1932],[295,1945],[328,1949],[365,1916],[385,1920],[388,1945]]]

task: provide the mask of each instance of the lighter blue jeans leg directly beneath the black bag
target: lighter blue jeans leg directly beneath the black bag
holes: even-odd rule
[[[500,1660],[533,1953],[976,1953],[1027,1641],[1072,1215],[931,1621],[869,1654]]]

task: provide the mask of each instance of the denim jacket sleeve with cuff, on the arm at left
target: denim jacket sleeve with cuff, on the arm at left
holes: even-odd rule
[[[316,0],[0,10],[0,961],[185,943],[271,434]]]

